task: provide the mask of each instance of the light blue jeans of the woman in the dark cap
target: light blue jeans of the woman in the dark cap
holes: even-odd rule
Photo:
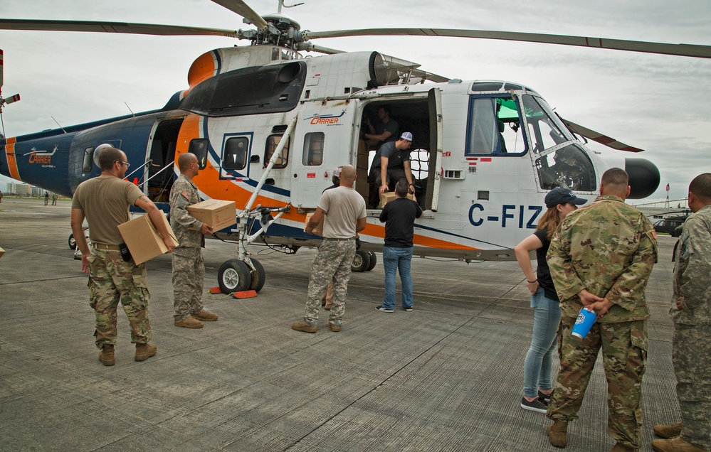
[[[526,353],[523,367],[523,394],[537,397],[538,389],[553,388],[551,369],[553,353],[558,345],[558,325],[560,323],[560,303],[546,298],[542,288],[531,296],[531,306],[535,309],[531,345]]]

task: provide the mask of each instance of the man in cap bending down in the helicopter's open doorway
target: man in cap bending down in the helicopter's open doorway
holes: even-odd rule
[[[370,182],[370,196],[368,208],[376,208],[380,202],[379,193],[393,188],[400,179],[407,179],[409,193],[415,193],[415,180],[410,169],[410,146],[412,134],[404,132],[398,141],[389,141],[375,154],[370,166],[368,181]]]

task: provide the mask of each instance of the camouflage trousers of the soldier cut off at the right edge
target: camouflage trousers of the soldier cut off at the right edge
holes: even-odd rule
[[[709,450],[711,441],[711,325],[674,325],[672,362],[686,441]]]

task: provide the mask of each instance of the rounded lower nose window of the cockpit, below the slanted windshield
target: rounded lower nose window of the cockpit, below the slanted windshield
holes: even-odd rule
[[[575,191],[594,191],[595,169],[590,158],[576,144],[549,152],[536,160],[541,188],[556,187]]]

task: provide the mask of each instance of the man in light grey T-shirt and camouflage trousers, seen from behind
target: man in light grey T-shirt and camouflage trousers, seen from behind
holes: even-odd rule
[[[366,225],[365,200],[353,188],[355,179],[355,168],[344,166],[340,185],[322,193],[316,212],[305,227],[304,231],[311,233],[324,219],[324,238],[311,264],[306,315],[303,321],[291,325],[294,330],[316,333],[321,300],[329,281],[333,281],[333,307],[328,326],[335,332],[341,330],[351,264],[356,252],[355,237]]]

